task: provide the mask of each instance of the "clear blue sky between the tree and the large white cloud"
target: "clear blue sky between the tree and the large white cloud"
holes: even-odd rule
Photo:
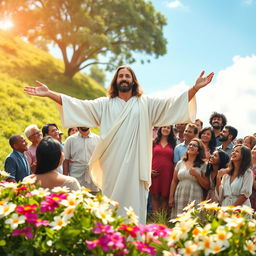
[[[201,70],[218,72],[236,55],[256,52],[256,3],[244,0],[153,1],[167,17],[168,53],[150,64],[132,65],[146,93],[185,81]]]

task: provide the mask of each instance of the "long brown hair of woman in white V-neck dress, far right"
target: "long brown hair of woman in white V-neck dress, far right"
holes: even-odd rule
[[[251,156],[251,150],[248,147],[242,144],[237,144],[233,147],[233,150],[237,147],[241,147],[241,160],[239,164],[239,173],[238,173],[238,177],[239,177],[239,176],[243,176],[246,170],[251,166],[252,156]],[[232,175],[235,171],[235,165],[232,160],[229,161],[228,168],[230,170],[229,174]]]

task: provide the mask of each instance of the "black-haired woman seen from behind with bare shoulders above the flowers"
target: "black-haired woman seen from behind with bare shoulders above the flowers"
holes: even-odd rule
[[[76,178],[65,176],[57,171],[64,159],[61,144],[52,137],[44,137],[36,149],[37,165],[35,174],[26,178],[36,178],[35,183],[43,188],[67,187],[79,190],[80,184]],[[24,180],[26,180],[26,178]]]

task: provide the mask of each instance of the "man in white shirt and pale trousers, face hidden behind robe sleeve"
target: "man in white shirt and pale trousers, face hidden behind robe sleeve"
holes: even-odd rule
[[[75,177],[81,186],[97,192],[89,174],[89,160],[100,137],[88,127],[78,127],[78,133],[69,136],[64,144],[63,174]]]

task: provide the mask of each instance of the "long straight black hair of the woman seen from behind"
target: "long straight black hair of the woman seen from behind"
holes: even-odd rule
[[[60,143],[50,136],[44,137],[36,149],[36,172],[43,174],[55,170],[60,163],[62,147]]]

